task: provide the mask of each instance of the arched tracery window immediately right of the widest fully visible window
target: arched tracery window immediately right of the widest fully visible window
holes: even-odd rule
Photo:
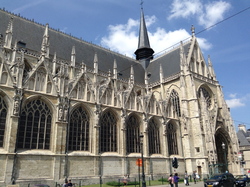
[[[82,107],[75,109],[70,115],[68,150],[89,150],[89,116]]]

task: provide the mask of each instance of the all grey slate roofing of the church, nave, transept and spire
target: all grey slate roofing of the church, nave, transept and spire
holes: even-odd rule
[[[143,17],[143,11],[141,11],[141,14]],[[45,25],[36,23],[34,20],[28,20],[4,10],[0,10],[0,33],[2,33],[3,36],[5,36],[11,17],[14,18],[12,44],[14,41],[21,41],[26,44],[26,48],[28,50],[34,51],[34,53],[40,55]],[[142,23],[141,25],[143,26],[142,30],[147,32],[145,23]],[[140,29],[141,32],[142,30]],[[72,47],[75,46],[76,64],[79,66],[83,61],[88,68],[93,69],[93,61],[96,53],[98,57],[99,71],[108,72],[111,70],[112,72],[114,60],[116,59],[117,71],[118,73],[121,72],[118,78],[128,80],[130,77],[131,66],[133,66],[134,72],[136,72],[134,75],[135,82],[144,85],[145,70],[136,59],[110,51],[106,48],[83,41],[52,28],[49,28],[48,35],[51,56],[56,52],[57,59],[70,62]],[[139,38],[138,47],[150,47],[148,38],[145,38],[145,36],[148,36],[147,33],[144,33],[144,35],[140,34],[140,36],[144,36],[144,38]],[[148,41],[148,43],[146,41]],[[185,53],[188,52],[189,45],[190,43],[186,43],[184,45]],[[158,82],[160,80],[160,65],[162,65],[164,78],[179,73],[180,48],[177,47],[151,61],[147,68],[147,71],[151,73],[149,83]]]

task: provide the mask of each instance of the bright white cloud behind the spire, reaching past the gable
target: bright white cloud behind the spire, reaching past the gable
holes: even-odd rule
[[[157,21],[155,16],[146,17],[147,28]],[[138,45],[139,21],[129,19],[126,24],[110,25],[108,35],[101,39],[101,45],[132,57]],[[190,38],[185,29],[166,31],[164,28],[156,28],[154,32],[148,32],[151,48],[155,54],[169,50],[171,46]],[[204,38],[198,38],[200,47],[204,50],[211,48],[211,44]]]

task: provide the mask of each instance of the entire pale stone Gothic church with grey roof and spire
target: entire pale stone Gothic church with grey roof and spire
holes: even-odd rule
[[[0,185],[138,178],[141,148],[146,178],[239,172],[230,111],[194,29],[153,58],[142,10],[133,59],[5,10],[0,23]]]

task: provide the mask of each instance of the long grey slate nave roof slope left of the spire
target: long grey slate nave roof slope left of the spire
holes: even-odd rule
[[[41,50],[45,26],[0,10],[0,33],[2,33],[3,36],[5,36],[5,32],[11,17],[14,17],[12,41],[22,41],[26,44],[27,49],[39,52]],[[137,72],[135,74],[135,81],[137,83],[144,84],[145,70],[135,59],[91,44],[79,38],[67,35],[58,30],[50,28],[48,34],[51,55],[56,52],[57,58],[69,62],[71,59],[72,47],[75,46],[76,63],[80,64],[82,61],[84,61],[87,67],[93,68],[94,55],[96,53],[98,56],[99,70],[104,72],[108,72],[109,70],[111,70],[112,72],[114,59],[116,59],[117,71],[121,71],[122,73],[120,78],[129,78],[130,67],[132,65],[134,67],[134,71]]]

